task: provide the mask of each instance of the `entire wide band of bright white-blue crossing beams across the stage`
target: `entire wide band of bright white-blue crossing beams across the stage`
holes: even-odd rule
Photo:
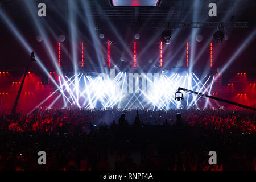
[[[146,74],[143,75],[146,76]],[[81,73],[71,78],[59,76],[60,85],[59,89],[55,92],[60,90],[61,94],[59,94],[50,106],[62,96],[64,107],[76,105],[80,108],[87,107],[90,109],[97,107],[101,109],[118,107],[122,109],[147,108],[156,110],[189,108],[197,105],[200,97],[193,94],[189,98],[189,94],[184,94],[185,101],[175,101],[174,93],[177,88],[180,86],[195,90],[196,92],[207,92],[210,94],[209,88],[212,87],[213,81],[212,84],[207,85],[209,78],[205,77],[204,80],[200,81],[193,73],[173,73],[170,76],[157,74],[157,76],[154,76],[154,80],[146,77],[147,88],[143,88],[142,81],[139,81],[138,85],[129,83],[130,74],[126,74],[126,72],[119,72],[114,79],[108,76],[93,78],[92,76]],[[133,81],[137,82],[138,80],[139,77],[135,77]],[[131,85],[133,88],[130,90],[129,87]],[[187,106],[184,106],[185,104]]]

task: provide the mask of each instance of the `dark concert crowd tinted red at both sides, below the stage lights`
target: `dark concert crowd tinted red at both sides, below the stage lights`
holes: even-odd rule
[[[255,111],[237,107],[3,114],[0,170],[256,170],[255,125]]]

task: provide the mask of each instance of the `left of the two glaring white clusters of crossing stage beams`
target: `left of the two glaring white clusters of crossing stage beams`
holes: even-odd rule
[[[59,84],[64,107],[69,104],[93,109],[100,103],[102,108],[108,108],[122,97],[115,93],[115,82],[109,78],[93,78],[79,73],[71,78],[59,76]]]

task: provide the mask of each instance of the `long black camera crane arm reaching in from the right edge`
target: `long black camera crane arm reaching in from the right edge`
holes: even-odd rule
[[[225,99],[223,99],[223,98],[208,96],[207,94],[195,92],[195,91],[193,91],[193,90],[188,90],[188,89],[184,89],[184,88],[181,88],[181,87],[179,87],[179,88],[177,89],[177,92],[180,92],[180,90],[183,90],[184,92],[194,93],[194,94],[197,94],[197,95],[199,95],[199,96],[204,96],[204,97],[212,98],[212,99],[217,100],[217,101],[226,102],[226,103],[228,103],[228,104],[236,105],[236,106],[238,106],[238,107],[243,107],[243,108],[246,108],[246,109],[250,109],[250,110],[256,111],[256,109],[255,109],[254,107],[250,107],[250,106],[246,106],[246,105],[243,105],[243,104],[239,104],[239,103],[237,103],[237,102],[228,101],[228,100],[225,100]]]

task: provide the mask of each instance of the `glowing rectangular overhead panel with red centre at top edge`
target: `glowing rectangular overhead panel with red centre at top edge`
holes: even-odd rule
[[[162,0],[109,0],[110,6],[155,6],[159,7]]]

